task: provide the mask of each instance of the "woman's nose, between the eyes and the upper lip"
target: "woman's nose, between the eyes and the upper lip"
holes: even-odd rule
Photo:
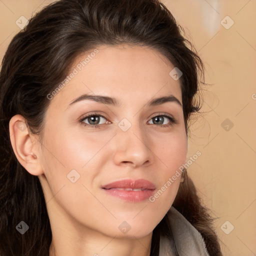
[[[151,150],[152,141],[139,124],[132,124],[126,131],[118,128],[114,136],[113,160],[116,165],[138,167],[152,164],[154,154]]]

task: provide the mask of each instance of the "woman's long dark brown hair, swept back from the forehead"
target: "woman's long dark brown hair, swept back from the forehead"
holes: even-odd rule
[[[99,45],[147,45],[182,71],[181,91],[186,132],[190,114],[198,112],[196,92],[203,64],[182,36],[170,11],[158,0],[59,0],[44,7],[11,40],[0,71],[0,254],[45,256],[52,239],[39,179],[17,161],[8,123],[21,114],[39,134],[49,104],[47,95],[68,74],[75,57]],[[211,217],[185,175],[173,206],[201,233],[211,256],[221,256]],[[158,256],[159,233],[175,249],[167,214],[153,230],[150,256]],[[23,220],[30,228],[20,235]],[[178,256],[178,252],[175,251]]]

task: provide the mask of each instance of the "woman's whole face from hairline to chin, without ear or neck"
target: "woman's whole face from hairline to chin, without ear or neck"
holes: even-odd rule
[[[173,68],[156,50],[139,46],[101,46],[76,58],[68,82],[48,95],[44,119],[39,179],[51,221],[142,237],[163,218],[179,186],[180,176],[172,176],[187,153]],[[152,103],[159,97],[169,100]],[[153,187],[107,186],[123,179]]]

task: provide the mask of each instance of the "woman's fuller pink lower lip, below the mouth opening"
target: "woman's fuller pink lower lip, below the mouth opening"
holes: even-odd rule
[[[132,190],[120,190],[115,188],[104,189],[106,193],[118,197],[120,199],[131,201],[131,202],[140,202],[148,199],[154,192],[155,189],[149,190],[140,190],[140,191],[132,191]]]

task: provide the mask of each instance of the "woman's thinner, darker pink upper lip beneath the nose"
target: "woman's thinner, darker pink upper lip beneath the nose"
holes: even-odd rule
[[[102,188],[110,189],[110,188],[141,188],[141,189],[155,189],[155,186],[152,182],[146,179],[122,179],[111,182],[109,184],[103,185]]]

